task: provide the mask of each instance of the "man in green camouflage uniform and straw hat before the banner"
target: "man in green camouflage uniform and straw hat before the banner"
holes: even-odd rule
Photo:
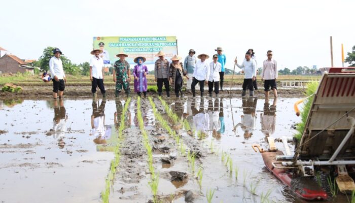
[[[130,78],[131,71],[129,69],[129,63],[125,60],[125,58],[128,55],[121,52],[116,56],[120,57],[120,60],[117,60],[114,63],[113,74],[114,74],[114,82],[116,83],[115,95],[117,97],[123,88],[127,96],[129,96],[130,93],[129,81],[131,79]]]

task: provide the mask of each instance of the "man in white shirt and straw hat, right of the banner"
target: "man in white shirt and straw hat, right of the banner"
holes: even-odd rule
[[[201,97],[203,97],[203,87],[204,83],[207,84],[209,78],[209,64],[207,63],[206,59],[209,58],[207,54],[200,54],[197,58],[201,59],[197,61],[194,69],[194,74],[192,75],[192,83],[191,83],[191,90],[192,96],[196,96],[196,89],[195,86],[197,83],[200,85]]]

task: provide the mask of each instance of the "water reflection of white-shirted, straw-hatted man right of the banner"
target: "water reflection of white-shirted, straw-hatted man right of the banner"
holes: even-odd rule
[[[209,129],[209,115],[204,112],[203,99],[201,99],[199,110],[196,109],[195,99],[193,99],[191,111],[195,129],[206,132]]]

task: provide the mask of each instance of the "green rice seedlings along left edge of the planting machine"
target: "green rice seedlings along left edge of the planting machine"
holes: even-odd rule
[[[297,133],[295,134],[295,137],[297,138],[297,140],[301,140],[302,134],[303,134],[303,130],[305,128],[306,122],[307,122],[307,117],[313,102],[313,98],[314,96],[311,96],[312,94],[315,93],[315,91],[317,90],[318,87],[318,82],[314,81],[314,82],[310,82],[307,84],[307,89],[305,92],[305,96],[310,96],[306,101],[304,101],[304,106],[303,109],[301,111],[301,122],[297,124]]]

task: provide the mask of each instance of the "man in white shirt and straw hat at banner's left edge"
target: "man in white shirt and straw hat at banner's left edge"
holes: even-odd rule
[[[103,86],[103,60],[99,57],[102,50],[94,49],[91,54],[94,55],[90,59],[90,80],[91,80],[91,92],[92,96],[95,98],[97,86],[100,89],[102,96],[106,97],[105,87]]]

